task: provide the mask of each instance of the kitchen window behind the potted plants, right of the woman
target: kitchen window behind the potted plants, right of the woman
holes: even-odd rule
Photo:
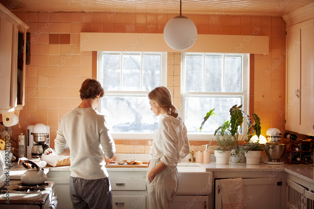
[[[182,53],[181,115],[190,138],[208,139],[208,134],[230,120],[229,109],[243,105],[248,112],[247,54]],[[199,133],[206,113],[212,116]],[[196,135],[197,134],[197,135]],[[194,135],[194,136],[193,136]]]

